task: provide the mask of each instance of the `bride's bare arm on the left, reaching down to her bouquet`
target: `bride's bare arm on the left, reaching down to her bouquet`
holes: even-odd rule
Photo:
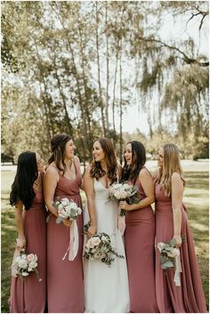
[[[95,217],[95,206],[94,206],[94,188],[93,188],[93,178],[90,175],[90,165],[85,170],[84,175],[84,187],[85,194],[87,197],[87,207],[90,216],[90,227],[87,230],[87,236],[90,238],[96,233],[96,217]]]

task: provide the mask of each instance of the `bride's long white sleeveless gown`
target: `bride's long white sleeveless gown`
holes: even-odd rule
[[[109,189],[94,179],[97,233],[105,232],[118,254],[125,256],[123,238],[117,229],[117,201],[109,198]],[[85,208],[85,223],[89,221]],[[84,261],[85,312],[127,313],[130,310],[126,259],[115,256],[109,267],[99,261]]]

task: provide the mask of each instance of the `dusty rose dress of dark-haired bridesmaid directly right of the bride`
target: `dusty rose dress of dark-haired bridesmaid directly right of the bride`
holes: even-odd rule
[[[145,198],[137,179],[141,199]],[[155,291],[155,214],[151,206],[126,212],[125,253],[130,289],[130,311],[158,312]]]

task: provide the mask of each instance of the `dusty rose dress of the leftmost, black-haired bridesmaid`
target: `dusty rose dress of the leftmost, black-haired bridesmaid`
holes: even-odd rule
[[[11,313],[44,313],[46,303],[46,210],[42,191],[35,191],[36,197],[28,211],[23,213],[26,252],[38,257],[39,277],[31,273],[27,278],[12,277],[9,307]]]

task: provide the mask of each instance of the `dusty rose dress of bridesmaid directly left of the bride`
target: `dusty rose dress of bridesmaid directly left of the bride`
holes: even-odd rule
[[[54,194],[54,200],[67,197],[82,208],[79,187],[82,182],[77,170],[76,180],[70,180],[60,175]],[[74,261],[68,260],[68,255],[62,261],[69,247],[69,227],[56,223],[56,217],[51,214],[47,224],[47,299],[50,313],[81,313],[84,312],[85,296],[83,281],[83,218],[77,216],[79,246]]]

